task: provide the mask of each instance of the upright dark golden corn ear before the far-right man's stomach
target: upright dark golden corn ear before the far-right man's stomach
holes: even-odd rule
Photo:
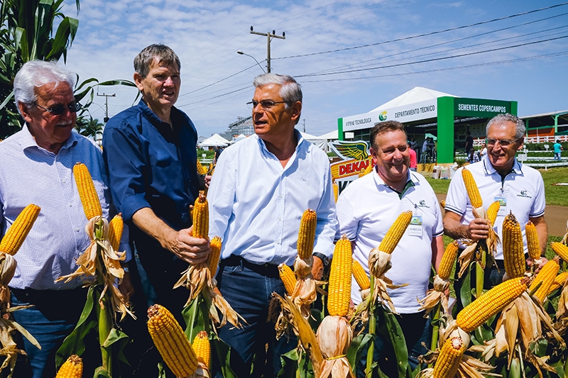
[[[526,271],[523,233],[513,213],[503,221],[503,265],[509,278],[523,277]]]

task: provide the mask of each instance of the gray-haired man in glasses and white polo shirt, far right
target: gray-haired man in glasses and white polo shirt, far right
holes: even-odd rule
[[[535,224],[540,250],[544,255],[548,238],[545,222],[545,186],[536,169],[521,164],[515,153],[523,146],[525,123],[512,114],[499,114],[487,123],[487,154],[480,162],[467,166],[473,174],[479,192],[487,208],[493,201],[501,201],[501,209],[494,229],[502,235],[503,219],[512,212],[523,230],[525,254],[527,244],[525,225]],[[474,218],[467,196],[461,169],[458,169],[449,184],[444,215],[444,232],[454,239],[485,239],[489,226],[484,219]],[[498,245],[495,254],[497,267],[486,272],[486,287],[493,287],[503,280],[503,246]],[[498,268],[498,269],[497,269]],[[458,283],[459,284],[459,283]]]

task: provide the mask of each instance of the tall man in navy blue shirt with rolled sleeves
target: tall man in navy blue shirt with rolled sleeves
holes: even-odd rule
[[[133,271],[138,296],[132,301],[139,316],[126,332],[133,338],[131,358],[136,360],[131,364],[143,377],[158,374],[161,360],[148,337],[146,308],[155,303],[165,306],[183,324],[181,312],[189,291],[173,286],[189,264],[207,260],[211,252],[209,240],[192,235],[190,206],[201,184],[197,130],[174,106],[180,69],[178,55],[168,46],[149,45],[138,53],[133,76],[142,99],[112,117],[103,135],[112,198],[129,225],[143,267],[140,274]],[[147,350],[152,354],[146,355]]]

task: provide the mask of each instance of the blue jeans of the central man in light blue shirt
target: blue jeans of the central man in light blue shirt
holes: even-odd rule
[[[229,323],[219,328],[219,338],[231,346],[231,368],[237,377],[275,377],[282,367],[280,355],[297,345],[295,337],[276,340],[274,324],[267,322],[272,293],[285,293],[282,280],[237,265],[222,267],[217,281],[219,291],[248,323],[241,329]]]

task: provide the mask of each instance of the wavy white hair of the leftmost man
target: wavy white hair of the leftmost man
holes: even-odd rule
[[[13,96],[16,107],[20,111],[18,104],[33,104],[38,96],[35,88],[45,84],[65,82],[73,89],[77,82],[77,76],[73,72],[63,70],[57,62],[44,62],[43,60],[31,60],[24,63],[13,79]]]

